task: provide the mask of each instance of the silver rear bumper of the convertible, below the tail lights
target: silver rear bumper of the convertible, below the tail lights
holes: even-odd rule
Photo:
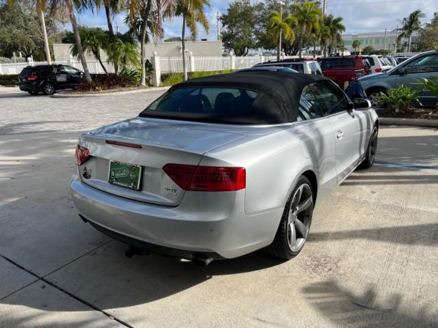
[[[79,213],[98,230],[141,249],[188,258],[195,253],[234,258],[263,248],[274,239],[283,212],[246,215],[244,190],[186,192],[176,207],[102,192],[78,177],[71,180],[71,192]]]

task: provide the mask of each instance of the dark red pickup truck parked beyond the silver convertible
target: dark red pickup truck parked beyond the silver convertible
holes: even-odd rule
[[[347,85],[346,82],[371,72],[370,63],[367,62],[367,59],[359,56],[320,57],[318,63],[324,76],[332,79],[343,89]]]

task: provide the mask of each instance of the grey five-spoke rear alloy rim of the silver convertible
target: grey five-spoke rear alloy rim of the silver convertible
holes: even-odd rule
[[[312,220],[312,210],[312,189],[304,183],[293,195],[287,220],[287,242],[293,252],[299,251],[307,239]]]

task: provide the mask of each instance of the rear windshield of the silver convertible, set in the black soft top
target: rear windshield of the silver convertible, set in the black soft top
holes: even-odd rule
[[[230,124],[277,123],[272,112],[284,110],[262,91],[225,87],[171,89],[152,102],[141,117]]]

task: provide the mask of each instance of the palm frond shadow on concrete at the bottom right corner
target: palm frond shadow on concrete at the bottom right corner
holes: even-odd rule
[[[402,296],[394,294],[385,300],[378,299],[374,285],[357,295],[340,286],[336,280],[313,283],[303,288],[306,298],[337,327],[437,327],[436,304],[411,304],[409,312],[401,307]],[[420,300],[419,300],[420,302]],[[415,313],[413,313],[415,312]]]

